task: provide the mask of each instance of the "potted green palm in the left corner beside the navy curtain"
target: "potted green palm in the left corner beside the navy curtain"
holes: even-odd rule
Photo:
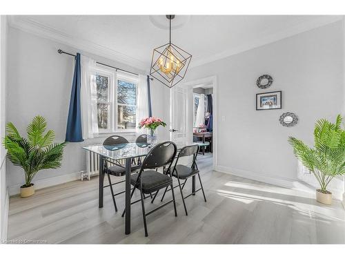
[[[34,194],[34,175],[42,169],[57,169],[61,166],[65,143],[54,143],[55,132],[46,131],[46,119],[36,116],[26,128],[28,139],[21,137],[17,128],[8,122],[3,145],[8,150],[12,164],[21,166],[25,184],[21,186],[21,197]]]

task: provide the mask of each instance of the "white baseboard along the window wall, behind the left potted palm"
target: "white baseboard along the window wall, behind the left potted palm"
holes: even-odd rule
[[[43,179],[34,180],[33,181],[34,189],[38,190],[38,189],[46,188],[49,186],[55,186],[58,184],[64,184],[66,182],[80,180],[81,173],[83,173],[83,171],[80,171],[77,173],[68,173],[66,175],[57,175],[51,178],[43,178]],[[15,185],[10,186],[9,187],[10,196],[19,194],[21,185],[23,184],[15,184]]]

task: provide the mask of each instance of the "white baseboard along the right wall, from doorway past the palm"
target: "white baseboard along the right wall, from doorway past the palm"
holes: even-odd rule
[[[258,182],[264,182],[266,184],[273,184],[285,188],[295,189],[299,191],[305,191],[307,193],[315,193],[315,187],[295,179],[281,178],[272,175],[266,175],[264,173],[254,173],[251,171],[246,171],[242,169],[233,169],[227,166],[216,166],[216,171],[221,173],[228,173],[230,175],[235,175],[241,178],[247,178],[250,180],[255,180]],[[343,191],[330,189],[333,193],[333,198],[336,200],[342,200],[345,207],[345,193],[343,198]]]

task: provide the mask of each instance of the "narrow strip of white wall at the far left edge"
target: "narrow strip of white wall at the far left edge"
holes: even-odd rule
[[[2,140],[6,124],[6,54],[8,22],[6,15],[0,17],[0,240],[7,238],[8,188],[6,185],[6,150]]]

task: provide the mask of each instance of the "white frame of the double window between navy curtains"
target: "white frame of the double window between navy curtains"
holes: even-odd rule
[[[106,103],[110,104],[108,112],[108,128],[99,128],[99,134],[108,134],[108,133],[135,133],[135,128],[117,128],[117,106],[135,106],[137,107],[137,94],[138,94],[138,82],[139,77],[135,75],[127,75],[126,73],[113,72],[112,68],[105,68],[103,66],[92,69],[92,75],[101,75],[103,77],[108,77],[108,101]],[[118,104],[117,103],[117,81],[123,80],[128,81],[129,83],[135,84],[135,96],[136,104]],[[97,102],[98,103],[98,102]],[[136,109],[137,111],[137,109]]]

